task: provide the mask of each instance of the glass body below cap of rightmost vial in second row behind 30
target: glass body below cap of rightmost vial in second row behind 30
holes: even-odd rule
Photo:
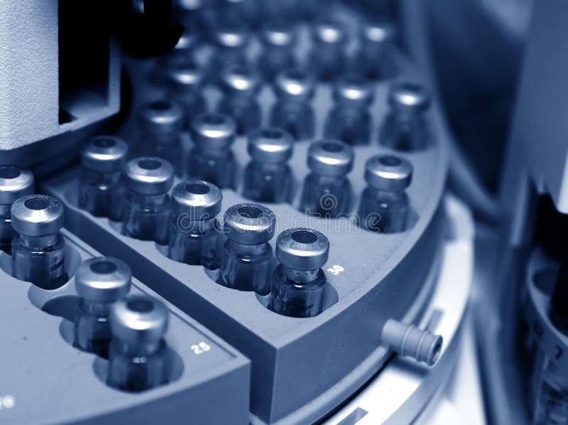
[[[371,232],[403,232],[408,222],[409,200],[406,193],[392,193],[367,187],[361,195],[361,225]]]

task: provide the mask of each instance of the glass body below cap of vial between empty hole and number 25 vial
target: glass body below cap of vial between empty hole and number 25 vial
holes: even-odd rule
[[[81,350],[106,358],[111,339],[109,305],[81,299],[75,314],[75,345]]]

